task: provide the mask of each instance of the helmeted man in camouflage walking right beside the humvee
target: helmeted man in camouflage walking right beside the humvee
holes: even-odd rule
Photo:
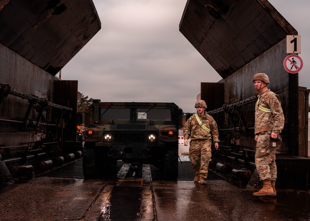
[[[217,150],[219,148],[219,131],[213,117],[206,112],[205,101],[198,100],[195,108],[197,109],[197,117],[196,115],[191,116],[184,125],[184,145],[187,146],[188,139],[191,138],[189,159],[195,173],[194,182],[198,182],[200,179],[200,184],[206,184],[212,138],[215,142],[215,150]],[[201,125],[198,123],[199,121],[201,121]]]

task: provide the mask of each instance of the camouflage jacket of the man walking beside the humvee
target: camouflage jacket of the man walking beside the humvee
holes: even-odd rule
[[[197,113],[198,114],[198,113]],[[198,117],[200,118],[200,121],[203,125],[205,125],[207,128],[211,130],[211,132],[207,132],[205,129],[203,129],[196,119],[196,116],[191,116],[184,125],[184,139],[188,140],[188,138],[191,138],[192,140],[196,139],[212,139],[213,141],[218,143],[219,142],[219,130],[217,129],[217,124],[213,117],[207,114],[205,111],[205,114],[203,116],[200,116],[198,114]]]

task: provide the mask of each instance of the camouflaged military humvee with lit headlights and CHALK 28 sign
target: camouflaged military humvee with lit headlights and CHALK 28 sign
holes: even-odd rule
[[[87,122],[88,121],[88,122]],[[109,174],[117,160],[149,163],[165,180],[178,177],[182,109],[174,103],[100,102],[86,110],[83,174]]]

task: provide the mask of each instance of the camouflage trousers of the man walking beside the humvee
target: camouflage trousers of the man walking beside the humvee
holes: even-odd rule
[[[195,175],[207,178],[209,161],[211,159],[211,140],[198,139],[189,142],[189,159]]]

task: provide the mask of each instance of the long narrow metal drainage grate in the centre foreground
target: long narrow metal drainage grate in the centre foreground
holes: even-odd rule
[[[115,186],[97,221],[140,219],[142,187]]]

